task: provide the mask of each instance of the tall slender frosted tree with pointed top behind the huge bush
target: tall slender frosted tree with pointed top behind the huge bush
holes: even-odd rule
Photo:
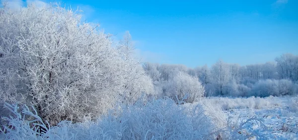
[[[122,54],[124,60],[124,92],[123,96],[126,102],[135,102],[142,93],[147,93],[147,95],[152,95],[153,84],[149,75],[147,75],[137,60],[134,57],[134,44],[132,42],[132,37],[129,31],[126,31],[123,40],[120,41],[117,47],[119,54]],[[146,97],[146,96],[145,96]]]

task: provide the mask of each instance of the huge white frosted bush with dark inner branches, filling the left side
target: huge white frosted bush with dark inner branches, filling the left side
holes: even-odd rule
[[[1,10],[1,103],[34,105],[57,124],[95,118],[116,101],[153,90],[141,65],[123,57],[131,54],[76,11],[50,5]]]

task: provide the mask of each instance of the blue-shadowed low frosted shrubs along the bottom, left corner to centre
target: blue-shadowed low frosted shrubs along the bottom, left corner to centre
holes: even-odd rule
[[[21,113],[14,109],[16,105],[10,108],[16,117],[6,118],[9,123],[3,126],[7,129],[0,133],[5,140],[213,140],[216,137],[202,106],[188,109],[171,99],[158,99],[146,105],[137,102],[134,106],[122,106],[97,122],[63,121],[55,127],[44,124],[27,107]],[[24,115],[33,117],[34,121],[22,119]],[[38,133],[34,126],[45,128],[46,133]]]

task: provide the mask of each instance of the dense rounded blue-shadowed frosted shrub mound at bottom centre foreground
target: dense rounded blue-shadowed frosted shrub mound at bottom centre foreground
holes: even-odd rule
[[[173,100],[155,100],[145,106],[135,104],[124,109],[114,120],[101,122],[110,127],[114,121],[122,124],[124,140],[206,140],[211,137],[212,125],[201,106],[186,110]],[[114,128],[112,126],[112,128]],[[106,130],[109,131],[109,130]],[[111,135],[113,136],[113,135]]]

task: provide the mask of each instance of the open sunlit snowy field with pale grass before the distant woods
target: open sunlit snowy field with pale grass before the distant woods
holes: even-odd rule
[[[223,112],[211,109],[211,116],[223,116],[224,113],[226,119],[231,122],[230,124],[239,125],[241,121],[254,117],[266,126],[266,128],[261,128],[257,123],[247,123],[237,130],[239,135],[254,133],[269,140],[298,140],[298,97],[211,97],[201,102],[207,106],[213,104],[221,107]],[[206,111],[209,111],[208,107]],[[217,119],[217,121],[220,124],[220,121],[224,122],[224,119]],[[255,138],[251,137],[250,140],[255,140]]]

